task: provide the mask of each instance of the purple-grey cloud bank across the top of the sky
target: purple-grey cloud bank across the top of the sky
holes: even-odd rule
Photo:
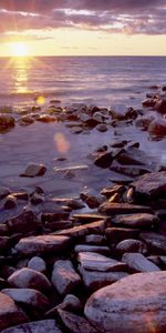
[[[165,34],[165,0],[0,0],[1,37],[58,28]]]

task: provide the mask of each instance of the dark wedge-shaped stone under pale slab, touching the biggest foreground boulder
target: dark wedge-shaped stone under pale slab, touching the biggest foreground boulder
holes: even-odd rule
[[[120,279],[128,276],[126,272],[98,272],[79,269],[84,285],[92,291],[96,291],[105,285],[112,284]]]

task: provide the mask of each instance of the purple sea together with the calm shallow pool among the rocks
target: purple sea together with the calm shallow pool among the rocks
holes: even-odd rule
[[[52,103],[141,109],[146,94],[162,92],[163,85],[166,57],[0,58],[0,110],[11,112],[17,120],[9,132],[0,132],[0,188],[28,189],[30,193],[35,186],[42,188],[48,201],[42,208],[33,206],[37,212],[52,210],[54,204],[50,200],[54,198],[79,198],[82,192],[98,195],[104,186],[120,182],[121,174],[95,167],[94,152],[122,140],[139,142],[149,164],[166,165],[166,139],[152,141],[147,131],[134,124],[120,122],[115,129],[108,125],[104,133],[94,128],[74,134],[65,122],[35,121],[21,127],[18,121],[24,109],[31,112],[39,101],[41,112],[46,112]],[[20,176],[29,163],[44,164],[45,174]],[[0,221],[21,209],[19,204],[6,211],[1,201]]]

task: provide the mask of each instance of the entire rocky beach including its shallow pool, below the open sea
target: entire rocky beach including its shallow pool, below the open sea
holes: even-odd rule
[[[166,332],[166,87],[151,91],[137,109],[0,108],[0,332]]]

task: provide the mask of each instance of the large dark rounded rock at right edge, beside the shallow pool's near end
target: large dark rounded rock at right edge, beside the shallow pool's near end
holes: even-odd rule
[[[166,171],[144,174],[132,185],[135,188],[135,193],[145,199],[163,195],[166,191]]]

